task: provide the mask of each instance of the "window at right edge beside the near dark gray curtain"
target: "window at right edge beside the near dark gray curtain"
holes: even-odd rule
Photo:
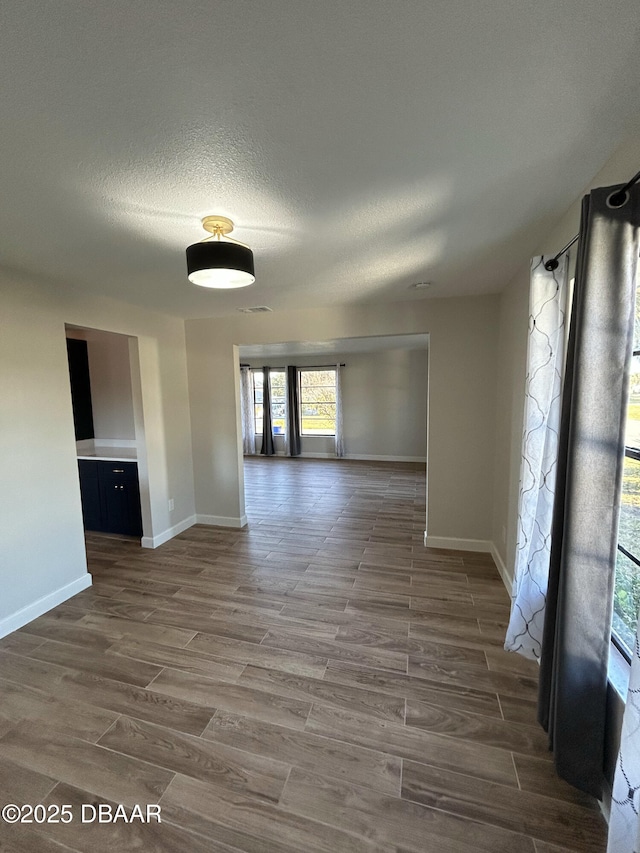
[[[640,291],[638,297],[640,298]],[[612,634],[620,651],[631,660],[640,607],[640,303],[638,299],[636,299],[636,328],[624,455]]]

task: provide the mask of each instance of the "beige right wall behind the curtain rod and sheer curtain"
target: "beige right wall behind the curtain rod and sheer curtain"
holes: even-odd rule
[[[625,183],[638,170],[640,138],[629,140],[594,177],[593,187]],[[534,254],[554,255],[578,232],[581,198],[575,200]],[[575,253],[574,253],[575,254]],[[573,262],[571,264],[573,267]],[[529,262],[500,297],[498,399],[495,448],[492,538],[506,574],[513,578],[515,561],[520,453],[529,308]],[[504,535],[503,535],[504,534]]]

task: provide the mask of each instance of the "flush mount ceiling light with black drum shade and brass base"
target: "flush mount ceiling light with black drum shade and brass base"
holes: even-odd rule
[[[202,227],[210,237],[187,247],[187,277],[200,287],[246,287],[256,280],[253,252],[229,237],[233,222],[226,216],[205,216]],[[222,239],[224,237],[224,239]]]

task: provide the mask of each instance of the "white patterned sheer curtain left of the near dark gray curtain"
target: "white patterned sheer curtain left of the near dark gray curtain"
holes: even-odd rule
[[[529,342],[518,539],[511,617],[504,647],[540,658],[564,363],[567,256],[553,272],[541,257],[531,262]]]

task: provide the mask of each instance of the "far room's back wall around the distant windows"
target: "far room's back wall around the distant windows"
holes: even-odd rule
[[[264,360],[242,359],[262,367]],[[332,354],[331,363],[344,364],[342,406],[346,458],[426,460],[427,351],[385,349],[367,353]],[[328,364],[327,356],[294,357],[274,366],[313,367]],[[284,452],[284,437],[274,436],[276,452]],[[256,438],[257,452],[262,437]],[[304,456],[334,456],[333,436],[302,436]]]

